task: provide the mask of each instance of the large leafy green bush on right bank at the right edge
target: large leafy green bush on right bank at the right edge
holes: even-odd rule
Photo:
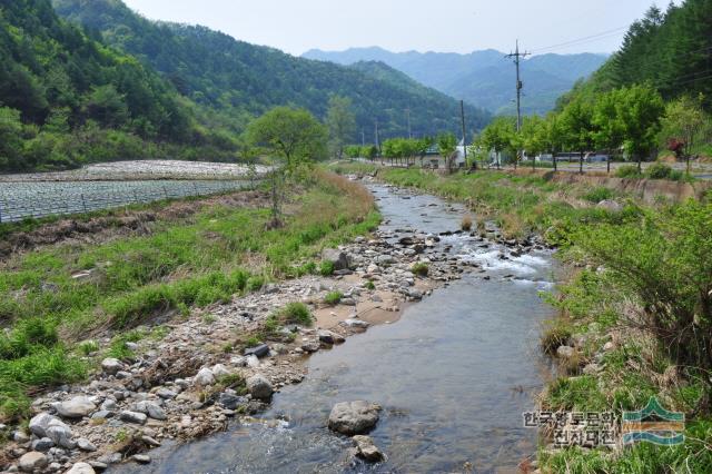
[[[640,223],[582,229],[574,239],[639,300],[642,324],[674,361],[712,368],[712,204],[690,200]]]

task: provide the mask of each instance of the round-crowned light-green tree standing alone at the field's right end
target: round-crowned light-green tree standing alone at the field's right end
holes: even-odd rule
[[[270,226],[279,227],[285,177],[301,164],[326,157],[327,131],[307,110],[276,107],[249,125],[246,141],[264,150],[270,158],[281,161],[281,166],[277,164],[270,174]]]

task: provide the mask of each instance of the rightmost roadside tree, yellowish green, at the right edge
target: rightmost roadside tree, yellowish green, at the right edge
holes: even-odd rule
[[[663,139],[668,142],[674,141],[675,148],[682,151],[688,165],[688,175],[690,174],[690,156],[695,145],[695,138],[709,120],[702,109],[702,96],[698,96],[698,99],[683,96],[668,103],[665,116],[661,121]]]

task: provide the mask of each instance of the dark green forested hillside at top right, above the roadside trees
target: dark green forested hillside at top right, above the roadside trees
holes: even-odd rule
[[[712,1],[685,0],[666,11],[652,7],[633,23],[620,51],[590,80],[576,85],[561,100],[593,98],[621,86],[647,82],[663,98],[703,95],[712,108]]]

